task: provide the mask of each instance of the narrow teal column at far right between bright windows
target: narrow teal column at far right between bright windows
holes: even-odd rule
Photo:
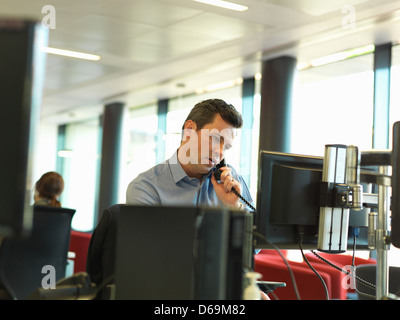
[[[372,148],[389,148],[390,67],[392,44],[375,47],[374,55],[374,124]]]

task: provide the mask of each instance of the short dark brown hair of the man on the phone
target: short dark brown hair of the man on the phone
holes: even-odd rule
[[[217,114],[234,128],[241,128],[243,125],[242,115],[233,105],[221,99],[208,99],[197,103],[193,107],[183,123],[182,129],[185,127],[186,121],[192,120],[196,123],[197,130],[200,130],[206,124],[213,122]]]

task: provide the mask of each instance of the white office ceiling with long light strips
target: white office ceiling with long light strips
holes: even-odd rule
[[[306,62],[400,39],[399,0],[234,2],[249,10],[192,0],[0,0],[0,16],[42,21],[43,6],[53,5],[49,46],[101,56],[48,55],[42,117],[54,121],[101,112],[115,99],[141,105],[253,76],[263,59],[282,54]]]

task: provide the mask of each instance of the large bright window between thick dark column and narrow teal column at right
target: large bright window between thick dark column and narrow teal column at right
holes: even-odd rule
[[[326,144],[372,148],[373,54],[298,72],[291,152],[323,156]]]

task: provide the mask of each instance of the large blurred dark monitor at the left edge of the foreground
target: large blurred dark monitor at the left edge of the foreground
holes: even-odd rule
[[[0,233],[29,230],[31,167],[40,120],[47,30],[32,21],[0,17]]]

